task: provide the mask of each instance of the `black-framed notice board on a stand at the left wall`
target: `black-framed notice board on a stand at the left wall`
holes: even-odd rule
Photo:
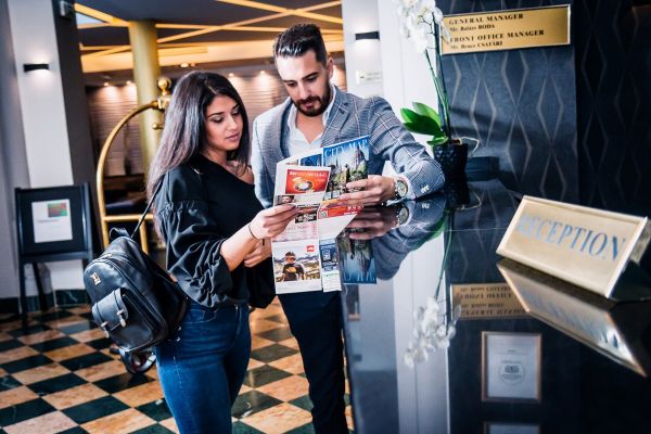
[[[21,256],[91,250],[88,184],[16,189],[15,199]]]

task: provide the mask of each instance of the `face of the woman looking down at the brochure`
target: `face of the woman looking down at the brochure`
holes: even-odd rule
[[[206,107],[205,148],[212,152],[234,151],[242,137],[240,105],[230,97],[217,95]]]

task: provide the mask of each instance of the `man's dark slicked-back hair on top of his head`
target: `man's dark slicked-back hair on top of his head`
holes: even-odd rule
[[[321,30],[315,24],[296,24],[278,35],[273,42],[273,59],[301,58],[314,50],[317,61],[326,65],[328,51],[321,36]]]

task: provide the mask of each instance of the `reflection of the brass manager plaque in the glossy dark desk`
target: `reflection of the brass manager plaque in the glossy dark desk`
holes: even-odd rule
[[[460,306],[460,319],[526,317],[518,297],[506,283],[452,285],[452,307]]]

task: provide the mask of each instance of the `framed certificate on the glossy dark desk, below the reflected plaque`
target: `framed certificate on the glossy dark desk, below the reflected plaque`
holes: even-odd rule
[[[541,336],[482,332],[482,400],[540,401]]]

